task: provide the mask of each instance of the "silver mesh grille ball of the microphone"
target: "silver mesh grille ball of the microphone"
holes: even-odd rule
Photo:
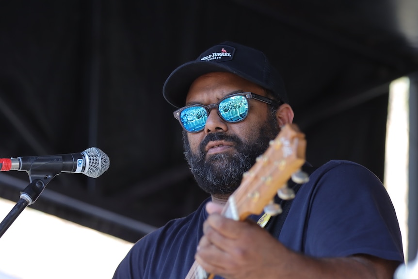
[[[83,173],[92,178],[101,176],[110,166],[109,157],[99,148],[92,147],[84,150],[88,167]]]

